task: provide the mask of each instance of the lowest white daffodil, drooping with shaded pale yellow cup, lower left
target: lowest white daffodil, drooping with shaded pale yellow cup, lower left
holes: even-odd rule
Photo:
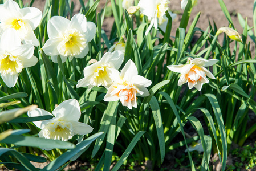
[[[45,139],[67,141],[74,135],[86,135],[94,129],[90,125],[78,121],[81,116],[81,111],[79,103],[75,99],[63,101],[52,111],[52,114],[37,108],[28,111],[27,115],[29,117],[55,116],[49,120],[34,121],[36,127],[41,129],[38,136]]]

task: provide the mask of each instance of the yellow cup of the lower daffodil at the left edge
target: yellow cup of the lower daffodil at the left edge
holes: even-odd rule
[[[23,64],[15,56],[1,55],[0,56],[0,73],[1,74],[17,74],[22,71]]]

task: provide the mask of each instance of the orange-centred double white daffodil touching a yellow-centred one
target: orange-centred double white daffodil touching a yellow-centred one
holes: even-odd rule
[[[116,73],[115,73],[116,74]],[[138,75],[135,63],[128,60],[120,75],[112,75],[113,84],[108,88],[108,92],[104,97],[105,101],[120,100],[124,106],[129,109],[137,107],[137,96],[149,96],[146,87],[151,85],[151,80]]]

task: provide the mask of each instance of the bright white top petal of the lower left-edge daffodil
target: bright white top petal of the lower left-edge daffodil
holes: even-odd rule
[[[0,47],[6,51],[11,51],[14,46],[21,45],[21,38],[14,28],[7,28],[0,37]]]

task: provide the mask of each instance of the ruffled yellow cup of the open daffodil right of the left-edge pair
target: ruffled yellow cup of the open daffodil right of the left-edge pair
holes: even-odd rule
[[[62,36],[62,42],[58,45],[58,51],[63,56],[79,55],[86,48],[86,38],[76,29],[70,29]]]

